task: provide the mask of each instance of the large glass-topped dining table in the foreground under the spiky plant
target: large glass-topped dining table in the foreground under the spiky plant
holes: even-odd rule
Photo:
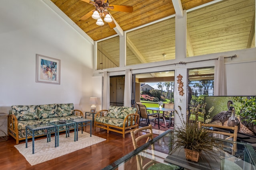
[[[178,166],[180,169],[184,168],[186,170],[256,170],[256,152],[250,144],[216,138],[222,146],[218,150],[216,160],[202,153],[203,159],[200,158],[198,162],[192,162],[186,160],[183,149],[176,150],[173,154],[169,154],[172,149],[173,135],[173,130],[169,129],[155,137],[152,141],[149,141],[126,156],[116,160],[109,166],[106,166],[103,170],[135,170],[137,169],[137,164],[142,164],[143,166],[152,160],[156,164],[172,164],[173,166]],[[236,149],[232,146],[236,146]],[[234,150],[234,152],[232,152],[232,150]]]

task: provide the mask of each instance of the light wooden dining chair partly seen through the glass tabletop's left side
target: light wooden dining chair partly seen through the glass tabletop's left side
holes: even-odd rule
[[[145,133],[145,130],[149,130],[149,133]],[[138,145],[144,145],[144,143],[147,143],[148,141],[153,139],[153,131],[152,131],[152,125],[148,125],[146,127],[141,127],[139,129],[136,129],[134,131],[130,132],[132,137],[132,144],[134,147],[134,150],[137,149]],[[145,142],[146,141],[146,142]],[[152,145],[152,160],[147,162],[146,164],[143,162],[145,160],[145,157],[138,154],[136,155],[136,161],[137,161],[137,169],[138,170],[178,170],[180,169],[179,166],[172,165],[172,164],[165,164],[165,163],[159,163],[154,160],[155,154],[154,154],[154,144]]]

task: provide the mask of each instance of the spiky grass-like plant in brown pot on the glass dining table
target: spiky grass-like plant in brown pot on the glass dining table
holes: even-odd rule
[[[191,113],[195,114],[195,121],[193,123],[185,122],[183,117],[184,114],[182,113],[180,106],[178,107],[180,109],[181,116],[178,111],[175,110],[175,113],[182,121],[182,124],[180,126],[176,126],[174,129],[174,145],[170,154],[174,153],[177,149],[181,150],[184,148],[187,160],[198,162],[202,152],[214,159],[216,158],[216,151],[212,148],[214,146],[217,147],[218,143],[214,137],[212,137],[212,133],[207,128],[198,126],[199,110],[202,109],[202,113],[205,114],[205,106],[206,104],[203,104],[192,108]]]

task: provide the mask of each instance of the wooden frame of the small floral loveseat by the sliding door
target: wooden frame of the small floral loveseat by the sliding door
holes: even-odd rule
[[[107,113],[108,113],[108,110],[100,110],[96,113],[95,118],[94,118],[94,130],[95,130],[95,127],[99,127],[101,129],[106,129],[107,133],[109,133],[109,131],[121,133],[121,134],[123,134],[123,138],[125,138],[126,133],[130,133],[131,131],[138,129],[138,127],[139,127],[140,115],[138,114],[138,110],[136,110],[136,113],[129,114],[125,117],[123,125],[125,125],[125,123],[126,123],[126,126],[123,126],[123,127],[108,125],[108,124],[100,123],[100,122],[96,121],[96,117],[106,116]],[[135,124],[128,126],[129,121],[131,121],[131,122],[134,121]]]

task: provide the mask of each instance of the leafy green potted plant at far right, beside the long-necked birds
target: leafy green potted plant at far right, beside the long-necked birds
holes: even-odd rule
[[[235,97],[234,102],[241,123],[256,135],[256,97]]]

